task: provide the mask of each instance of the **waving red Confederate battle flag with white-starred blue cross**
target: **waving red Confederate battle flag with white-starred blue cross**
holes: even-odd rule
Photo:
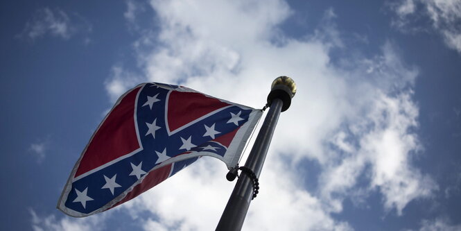
[[[143,83],[99,125],[58,201],[89,216],[142,194],[203,155],[235,166],[261,111],[193,89]]]

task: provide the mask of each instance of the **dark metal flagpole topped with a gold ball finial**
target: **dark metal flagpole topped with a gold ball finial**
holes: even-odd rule
[[[295,82],[289,77],[280,76],[272,82],[271,91],[268,95],[268,105],[270,106],[269,112],[266,115],[266,119],[264,119],[261,130],[259,130],[253,148],[250,151],[250,155],[248,155],[247,161],[245,162],[244,170],[250,169],[254,175],[252,177],[250,171],[241,172],[234,190],[227,201],[227,205],[216,230],[241,230],[248,207],[250,207],[250,202],[254,197],[254,193],[256,192],[257,194],[257,190],[259,189],[257,186],[258,184],[255,185],[254,183],[254,177],[257,179],[261,175],[264,160],[266,160],[270,141],[272,140],[275,126],[277,126],[280,112],[284,112],[290,107],[291,99],[295,96],[295,93]],[[227,179],[233,180],[233,174],[235,178],[237,174],[235,169],[229,171]]]

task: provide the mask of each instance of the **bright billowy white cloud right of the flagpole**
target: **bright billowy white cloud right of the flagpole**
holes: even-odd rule
[[[408,89],[417,70],[405,67],[390,43],[383,46],[382,55],[361,62],[363,66],[355,65],[352,73],[367,78],[356,79],[365,81],[365,86],[349,85],[350,100],[356,101],[348,106],[358,113],[346,115],[345,128],[338,128],[330,140],[336,148],[325,151],[333,161],[320,177],[322,196],[330,200],[332,211],[340,212],[342,200],[354,197],[358,178],[367,176],[370,182],[365,192],[378,189],[385,209],[402,214],[411,200],[431,196],[438,189],[412,165],[412,157],[422,148],[412,132],[418,126],[418,109]]]

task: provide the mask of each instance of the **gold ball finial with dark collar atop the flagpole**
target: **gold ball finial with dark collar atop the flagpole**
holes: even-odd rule
[[[281,111],[284,112],[290,108],[291,99],[296,94],[296,83],[295,80],[288,76],[277,77],[273,82],[268,95],[268,104],[272,103],[274,99],[281,99],[284,105],[281,107]]]

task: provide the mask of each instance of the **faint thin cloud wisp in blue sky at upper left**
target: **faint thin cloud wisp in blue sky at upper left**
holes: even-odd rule
[[[78,31],[90,32],[92,26],[79,15],[71,17],[60,8],[40,8],[35,11],[18,36],[35,40],[49,34],[68,40]]]

